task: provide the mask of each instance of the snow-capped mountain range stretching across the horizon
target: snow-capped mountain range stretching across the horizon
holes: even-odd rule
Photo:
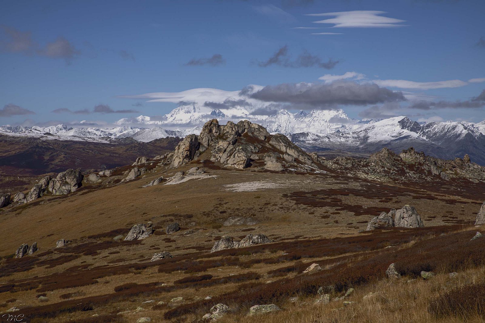
[[[418,151],[446,159],[469,154],[472,161],[485,164],[485,121],[417,123],[404,116],[356,120],[349,118],[341,109],[292,113],[285,109],[265,111],[237,104],[220,104],[220,107],[214,108],[192,103],[180,105],[156,120],[147,116],[120,119],[112,128],[74,128],[64,124],[49,127],[4,125],[0,127],[0,134],[102,142],[131,137],[148,142],[198,134],[201,126],[214,118],[221,123],[244,119],[259,123],[270,133],[284,134],[309,151],[368,153],[382,147],[400,151],[413,146]]]

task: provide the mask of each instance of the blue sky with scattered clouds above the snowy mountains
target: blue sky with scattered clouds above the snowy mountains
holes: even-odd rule
[[[349,14],[355,11],[366,12]],[[308,15],[322,13],[343,14]],[[407,98],[332,104],[350,117],[480,122],[484,13],[483,0],[3,1],[0,123],[110,123],[177,106],[120,96],[325,84],[333,78],[320,77],[346,72],[356,76],[336,80],[371,82]],[[324,19],[333,23],[313,22]],[[298,61],[301,55],[312,62]],[[425,108],[416,104],[422,100]],[[457,100],[463,104],[450,108]],[[292,102],[285,103],[300,108]]]

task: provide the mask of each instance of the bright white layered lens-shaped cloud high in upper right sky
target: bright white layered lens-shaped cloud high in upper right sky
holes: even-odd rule
[[[314,21],[314,23],[333,24],[333,27],[338,28],[391,28],[405,26],[398,25],[405,20],[381,16],[385,13],[385,11],[358,10],[308,15],[335,16],[335,18],[318,20]]]

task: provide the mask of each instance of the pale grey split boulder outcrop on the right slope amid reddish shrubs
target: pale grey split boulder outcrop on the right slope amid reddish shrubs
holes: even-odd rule
[[[366,231],[381,227],[421,228],[424,224],[414,206],[404,205],[397,211],[391,209],[389,213],[383,212],[379,216],[374,216],[367,224]]]

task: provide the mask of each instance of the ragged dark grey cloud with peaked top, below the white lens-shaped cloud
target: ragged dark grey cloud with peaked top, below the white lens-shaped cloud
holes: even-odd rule
[[[339,61],[334,61],[328,59],[328,61],[323,61],[322,58],[310,54],[306,49],[303,50],[298,57],[291,61],[290,55],[288,55],[288,45],[278,48],[278,50],[273,54],[268,60],[264,62],[258,62],[260,67],[268,67],[271,65],[278,65],[283,67],[320,67],[325,69],[332,69],[337,65]]]

